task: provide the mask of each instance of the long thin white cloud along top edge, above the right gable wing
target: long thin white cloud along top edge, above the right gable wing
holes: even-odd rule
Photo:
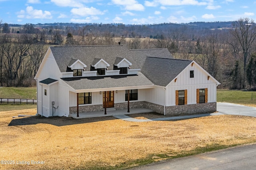
[[[180,6],[180,5],[207,5],[207,2],[197,0],[157,0],[161,5]]]

